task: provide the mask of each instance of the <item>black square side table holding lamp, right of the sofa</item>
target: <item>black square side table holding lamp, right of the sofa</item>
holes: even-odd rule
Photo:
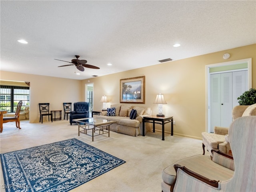
[[[158,122],[156,122],[158,121]],[[165,116],[165,117],[158,117],[158,116],[146,116],[143,117],[142,120],[142,134],[145,136],[145,122],[153,123],[153,132],[155,132],[155,123],[162,125],[162,140],[164,141],[164,125],[166,123],[171,123],[171,135],[173,135],[173,117],[172,116]]]

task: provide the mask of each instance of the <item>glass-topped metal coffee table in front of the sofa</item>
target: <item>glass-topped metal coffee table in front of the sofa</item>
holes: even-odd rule
[[[116,123],[116,121],[108,121],[97,118],[82,118],[76,119],[74,121],[76,121],[76,123],[78,124],[78,136],[80,136],[80,133],[84,133],[91,136],[92,141],[97,135],[108,133],[109,137],[109,125],[111,125],[112,123]],[[80,130],[80,128],[82,128],[82,130]]]

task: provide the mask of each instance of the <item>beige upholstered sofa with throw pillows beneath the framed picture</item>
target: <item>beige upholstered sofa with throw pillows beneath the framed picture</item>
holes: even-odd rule
[[[152,114],[151,108],[139,107],[136,105],[128,104],[113,104],[110,108],[116,108],[115,116],[107,116],[107,112],[101,112],[99,116],[94,118],[100,118],[105,120],[116,121],[110,125],[110,131],[117,133],[123,133],[131,136],[142,135],[142,119],[143,116],[149,116]],[[130,112],[132,109],[137,111],[136,119],[130,119]],[[145,133],[152,130],[152,123],[145,123]]]

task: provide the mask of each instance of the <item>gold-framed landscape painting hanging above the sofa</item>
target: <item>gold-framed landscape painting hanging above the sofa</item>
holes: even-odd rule
[[[120,79],[120,103],[145,103],[145,76]]]

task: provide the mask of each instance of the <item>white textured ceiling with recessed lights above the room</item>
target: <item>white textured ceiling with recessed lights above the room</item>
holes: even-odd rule
[[[86,79],[256,43],[255,0],[1,0],[0,6],[1,71]],[[74,55],[100,69],[78,76],[76,67],[54,60]]]

